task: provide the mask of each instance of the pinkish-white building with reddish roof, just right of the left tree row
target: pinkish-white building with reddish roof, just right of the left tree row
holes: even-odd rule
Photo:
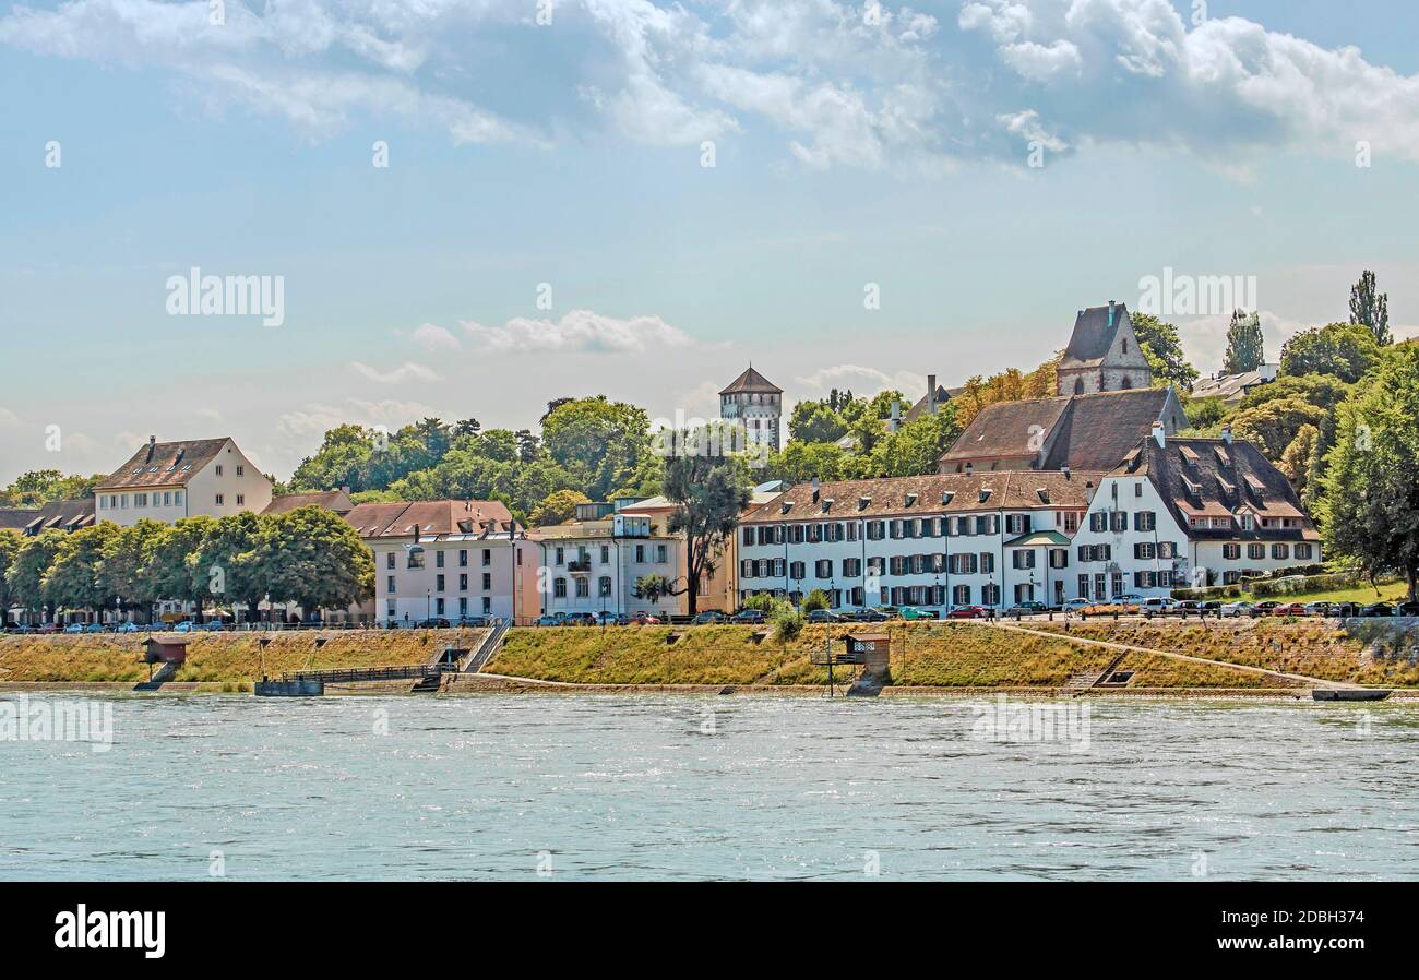
[[[536,614],[536,547],[499,501],[360,503],[345,520],[375,553],[385,625]]]

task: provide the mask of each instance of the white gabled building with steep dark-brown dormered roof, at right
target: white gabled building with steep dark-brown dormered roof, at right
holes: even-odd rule
[[[1071,594],[1166,596],[1320,560],[1315,525],[1256,445],[1156,425],[1104,477],[1074,538]]]

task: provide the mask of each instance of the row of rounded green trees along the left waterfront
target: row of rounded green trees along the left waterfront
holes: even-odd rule
[[[338,515],[308,506],[277,515],[99,522],[34,538],[0,530],[0,611],[20,607],[140,611],[160,601],[245,607],[295,603],[307,613],[345,608],[373,594],[375,562]]]

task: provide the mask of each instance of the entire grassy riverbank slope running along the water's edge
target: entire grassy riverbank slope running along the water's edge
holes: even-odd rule
[[[1315,684],[1419,692],[1419,657],[1402,642],[1349,635],[1321,620],[1063,621],[1019,624],[890,623],[887,696],[924,694],[1121,694],[1127,696],[1305,695]],[[763,628],[517,628],[481,675],[450,678],[450,694],[691,692],[823,694],[827,669],[812,657],[861,625],[810,625],[788,642]],[[1022,630],[1027,630],[1022,631]],[[187,661],[159,688],[244,694],[263,674],[430,662],[448,645],[475,647],[480,630],[199,634]],[[263,645],[263,640],[267,642]],[[1083,642],[1083,641],[1094,642]],[[0,638],[0,689],[132,689],[148,679],[142,635]],[[1128,650],[1100,644],[1121,644]],[[1195,659],[1200,658],[1200,659]],[[1227,661],[1227,662],[1216,662]],[[1267,674],[1270,671],[1271,674]],[[836,668],[843,684],[849,668]],[[1104,685],[1104,686],[1100,686]],[[38,689],[38,688],[37,688]],[[96,689],[96,688],[92,688]],[[407,684],[387,685],[387,691]],[[350,685],[349,691],[385,688]],[[1225,694],[1223,694],[1225,692]]]

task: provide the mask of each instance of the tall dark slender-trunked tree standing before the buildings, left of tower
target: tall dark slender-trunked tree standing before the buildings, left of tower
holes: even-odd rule
[[[680,505],[670,518],[670,530],[685,538],[685,593],[694,616],[701,579],[715,573],[739,515],[749,506],[748,475],[735,458],[675,455],[666,464],[666,498]]]

